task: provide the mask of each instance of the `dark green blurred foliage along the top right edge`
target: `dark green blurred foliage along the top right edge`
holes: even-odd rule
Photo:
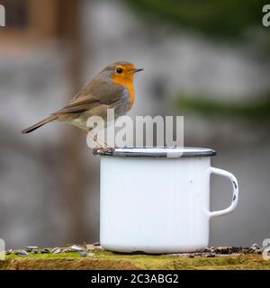
[[[127,0],[146,19],[175,23],[215,37],[238,36],[249,27],[262,27],[263,0]]]

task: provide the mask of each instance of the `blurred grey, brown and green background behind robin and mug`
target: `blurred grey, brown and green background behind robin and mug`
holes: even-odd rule
[[[184,145],[217,150],[240,201],[211,222],[213,246],[270,238],[270,27],[265,1],[0,0],[0,238],[7,247],[98,241],[99,159],[63,123],[21,130],[61,108],[102,67],[129,60],[130,115],[184,115]],[[229,205],[213,177],[211,209]],[[166,193],[166,191],[164,192]]]

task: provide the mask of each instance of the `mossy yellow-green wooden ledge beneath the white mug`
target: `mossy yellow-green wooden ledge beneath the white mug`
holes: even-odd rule
[[[94,252],[92,257],[79,253],[30,254],[27,257],[6,256],[0,261],[4,270],[66,270],[66,269],[270,269],[270,260],[262,255],[174,257],[151,255],[126,255],[109,251]]]

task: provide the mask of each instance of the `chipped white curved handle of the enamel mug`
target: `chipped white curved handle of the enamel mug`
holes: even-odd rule
[[[220,211],[209,211],[210,212],[210,217],[216,217],[216,216],[222,216],[229,214],[230,212],[234,211],[237,204],[238,204],[238,180],[237,178],[229,173],[228,171],[219,169],[219,168],[214,168],[210,167],[210,175],[211,174],[216,174],[216,175],[221,175],[229,178],[231,184],[232,184],[232,200],[228,208],[220,210]]]

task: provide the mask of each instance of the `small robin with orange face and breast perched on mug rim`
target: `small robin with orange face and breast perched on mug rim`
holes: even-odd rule
[[[23,133],[30,133],[51,121],[64,121],[88,131],[86,122],[91,116],[101,116],[106,121],[107,109],[114,109],[115,118],[126,114],[135,100],[134,75],[141,70],[125,61],[104,67],[64,108],[23,130]]]

